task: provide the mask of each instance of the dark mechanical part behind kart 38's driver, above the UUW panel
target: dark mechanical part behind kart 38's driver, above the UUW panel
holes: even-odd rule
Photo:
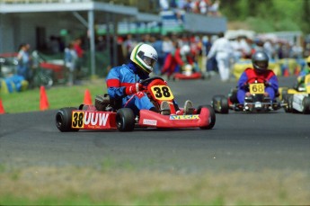
[[[121,108],[121,99],[113,99],[109,94],[96,95],[94,106],[98,111],[116,112]]]

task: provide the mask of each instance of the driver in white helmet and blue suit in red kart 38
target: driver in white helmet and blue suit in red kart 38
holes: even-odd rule
[[[106,78],[110,97],[121,100],[121,107],[131,108],[136,115],[142,109],[169,115],[169,103],[162,102],[158,111],[140,84],[141,80],[149,78],[156,61],[157,52],[152,46],[145,43],[137,44],[131,52],[128,64],[111,68]],[[190,101],[185,102],[183,111],[174,100],[173,104],[177,114],[189,114],[193,108]]]

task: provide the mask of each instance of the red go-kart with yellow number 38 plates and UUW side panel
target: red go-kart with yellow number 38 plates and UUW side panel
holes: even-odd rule
[[[108,94],[97,95],[95,105],[81,104],[79,108],[66,107],[56,114],[56,126],[60,131],[77,130],[120,130],[134,128],[200,128],[210,130],[216,123],[216,114],[210,105],[194,108],[193,114],[178,115],[173,105],[173,93],[161,77],[151,77],[141,82],[145,92],[159,109],[160,103],[170,105],[170,115],[149,110],[140,110],[135,116],[130,108],[121,108],[120,101]],[[182,108],[181,108],[182,109]]]

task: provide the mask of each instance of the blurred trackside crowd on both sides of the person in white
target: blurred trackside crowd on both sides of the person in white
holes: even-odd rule
[[[194,34],[176,34],[171,33],[167,35],[161,34],[145,34],[134,35],[128,34],[119,37],[119,45],[122,49],[123,59],[128,59],[131,50],[137,45],[138,42],[143,41],[151,44],[158,52],[159,60],[155,67],[155,75],[171,75],[164,73],[164,63],[168,60],[169,55],[175,56],[178,49],[182,49],[184,45],[190,47],[190,54],[193,63],[202,72],[218,72],[217,61],[215,58],[208,58],[208,52],[212,48],[213,43],[217,40],[217,35],[194,35]],[[285,40],[270,40],[259,38],[247,38],[246,36],[237,36],[233,39],[228,39],[230,53],[232,54],[230,62],[231,67],[233,64],[238,63],[241,59],[250,59],[252,54],[257,50],[265,51],[271,61],[280,58],[304,58],[303,49],[298,47],[292,42]],[[227,48],[228,49],[228,48]],[[182,64],[182,63],[179,63]],[[183,65],[174,67],[170,72],[180,72]]]

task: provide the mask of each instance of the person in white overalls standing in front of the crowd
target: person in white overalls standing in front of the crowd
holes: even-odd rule
[[[217,60],[217,67],[220,78],[223,82],[229,81],[230,76],[230,58],[233,56],[233,49],[229,42],[224,37],[224,33],[218,34],[217,40],[214,41],[210,51],[208,52],[207,59],[215,57]]]

